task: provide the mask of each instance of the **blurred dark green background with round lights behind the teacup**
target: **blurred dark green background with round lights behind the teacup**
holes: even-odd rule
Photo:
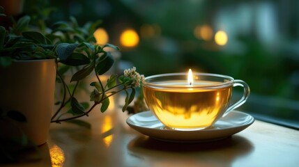
[[[135,66],[148,76],[192,68],[242,79],[251,95],[239,111],[299,129],[297,0],[13,1],[24,5],[18,15],[39,13],[49,25],[101,19],[95,38],[121,48],[120,70]]]

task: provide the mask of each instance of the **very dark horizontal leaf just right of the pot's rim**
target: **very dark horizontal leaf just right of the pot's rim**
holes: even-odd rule
[[[88,57],[84,54],[74,52],[65,61],[61,61],[61,63],[66,65],[78,66],[78,65],[86,65],[91,63]]]

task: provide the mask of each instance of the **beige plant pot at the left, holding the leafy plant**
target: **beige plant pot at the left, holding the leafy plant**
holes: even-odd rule
[[[2,121],[0,138],[20,137],[21,131],[36,145],[46,143],[55,79],[54,59],[15,61],[9,67],[0,68],[0,108],[3,112],[19,111],[26,117],[26,122],[12,120],[6,127]]]

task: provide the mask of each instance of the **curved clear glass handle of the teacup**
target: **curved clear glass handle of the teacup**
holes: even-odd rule
[[[246,102],[247,98],[250,95],[250,87],[246,84],[245,81],[236,79],[236,80],[233,81],[233,87],[235,87],[235,86],[242,86],[243,87],[243,89],[244,89],[243,96],[238,102],[235,102],[235,103],[231,104],[231,106],[229,106],[229,108],[227,108],[227,111],[225,111],[225,113],[223,114],[222,117],[227,116],[227,114],[230,111],[233,111],[233,109],[236,109],[237,107],[244,104]]]

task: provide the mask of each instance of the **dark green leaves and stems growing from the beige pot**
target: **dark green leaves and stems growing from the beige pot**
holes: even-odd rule
[[[2,8],[0,8],[0,13]],[[38,13],[38,17],[43,17],[47,13]],[[37,20],[37,18],[34,20]],[[39,31],[31,30],[29,22],[31,17],[25,15],[17,22],[14,22],[10,29],[0,26],[0,65],[7,67],[13,60],[34,60],[55,58],[57,63],[57,83],[61,84],[61,100],[56,101],[59,105],[58,111],[52,116],[51,122],[61,122],[73,120],[81,116],[87,116],[95,105],[101,104],[100,111],[105,112],[109,107],[109,97],[127,89],[132,89],[125,100],[125,108],[132,102],[135,95],[135,89],[132,79],[121,77],[118,79],[121,84],[117,84],[117,75],[112,74],[107,80],[107,85],[102,85],[98,75],[105,74],[114,64],[114,58],[105,47],[119,50],[112,44],[106,44],[103,47],[93,45],[95,38],[93,32],[98,28],[97,22],[89,22],[84,26],[79,26],[75,17],[70,17],[70,22],[59,21],[52,26],[50,33],[45,33],[45,22],[34,24],[40,28]],[[41,20],[40,20],[41,21]],[[49,29],[49,28],[48,28]],[[62,63],[63,65],[59,65]],[[76,90],[81,82],[91,74],[97,76],[98,81],[90,85],[95,90],[90,95],[90,100],[94,102],[89,108],[86,102],[78,102],[75,97]],[[70,76],[70,83],[65,81]],[[118,86],[123,86],[120,90],[114,90]],[[66,110],[62,110],[66,108]],[[67,114],[72,115],[64,118]],[[26,118],[17,111],[8,112],[8,116],[17,121],[25,121]],[[56,119],[55,119],[56,118]],[[77,125],[82,122],[73,121]],[[84,125],[84,124],[83,124]]]

